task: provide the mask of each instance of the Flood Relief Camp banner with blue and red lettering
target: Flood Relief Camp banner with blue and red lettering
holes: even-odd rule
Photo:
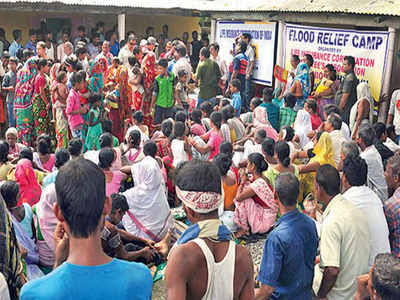
[[[285,28],[285,68],[290,70],[290,56],[304,54],[314,58],[315,82],[323,77],[323,68],[332,64],[338,75],[343,73],[343,59],[354,56],[355,74],[368,82],[372,96],[379,101],[386,68],[389,33],[319,28],[287,24]]]

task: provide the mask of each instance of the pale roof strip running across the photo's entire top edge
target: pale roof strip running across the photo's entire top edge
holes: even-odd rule
[[[207,12],[325,12],[400,16],[400,0],[0,0],[1,3],[177,8]]]

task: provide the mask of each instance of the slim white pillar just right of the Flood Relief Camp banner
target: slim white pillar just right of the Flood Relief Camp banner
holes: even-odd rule
[[[387,53],[387,61],[386,61],[386,70],[383,77],[383,86],[381,95],[387,95],[388,100],[379,103],[379,114],[378,114],[378,122],[386,123],[387,113],[390,105],[390,83],[392,78],[392,70],[393,70],[393,60],[395,55],[395,41],[396,41],[396,29],[393,27],[389,27],[389,41],[388,41],[388,53]],[[382,98],[381,98],[382,101]]]

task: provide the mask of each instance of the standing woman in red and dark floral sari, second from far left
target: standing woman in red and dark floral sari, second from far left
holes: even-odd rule
[[[50,123],[50,80],[47,76],[49,66],[47,60],[41,58],[38,62],[39,73],[35,79],[35,92],[33,99],[33,120],[35,125],[35,136],[42,133],[50,134],[52,126]]]

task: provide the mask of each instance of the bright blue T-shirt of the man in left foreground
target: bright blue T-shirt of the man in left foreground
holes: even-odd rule
[[[119,259],[90,267],[65,262],[48,275],[25,284],[20,299],[150,300],[152,286],[153,278],[143,264]]]

